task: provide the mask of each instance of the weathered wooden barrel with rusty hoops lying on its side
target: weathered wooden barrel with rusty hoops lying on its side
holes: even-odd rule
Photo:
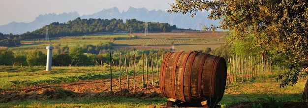
[[[227,80],[225,59],[199,52],[166,54],[160,72],[161,94],[187,103],[218,103]]]

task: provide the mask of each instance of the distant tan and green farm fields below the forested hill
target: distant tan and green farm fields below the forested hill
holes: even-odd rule
[[[94,35],[94,36],[66,36],[59,37],[53,40],[27,40],[21,41],[22,45],[17,47],[10,47],[9,50],[16,51],[32,51],[38,49],[46,52],[45,47],[52,45],[57,50],[60,47],[68,46],[70,48],[83,45],[97,45],[98,43],[113,42],[117,44],[115,49],[133,46],[137,50],[149,50],[143,46],[160,46],[161,48],[170,49],[171,45],[175,45],[175,49],[179,51],[200,50],[206,47],[216,49],[224,45],[225,32],[202,32],[202,33],[150,33],[149,36],[144,36],[143,33],[134,33],[139,39],[125,39],[129,37],[126,34],[121,35]],[[116,39],[123,37],[122,39]],[[192,45],[195,45],[191,47]],[[157,47],[155,47],[157,48]]]

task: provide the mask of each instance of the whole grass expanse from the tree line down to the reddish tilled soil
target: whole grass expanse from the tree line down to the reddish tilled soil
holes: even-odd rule
[[[81,66],[81,67],[57,67],[54,66],[52,71],[44,71],[46,67],[44,66],[0,66],[0,89],[13,89],[13,85],[26,86],[35,85],[36,83],[50,83],[50,82],[72,82],[79,81],[82,79],[76,79],[75,77],[83,77],[84,75],[91,73],[95,76],[105,76],[109,77],[109,68],[105,69],[99,66]],[[132,67],[129,67],[129,75],[132,75]],[[113,67],[113,76],[119,76],[119,67]],[[125,70],[122,71],[125,74]],[[136,68],[136,75],[141,74],[140,68]],[[154,70],[156,75],[156,70]],[[72,77],[72,78],[70,78]],[[64,81],[66,79],[66,81]],[[95,79],[95,78],[89,78]],[[88,79],[88,80],[89,80]],[[10,82],[14,81],[15,84]]]

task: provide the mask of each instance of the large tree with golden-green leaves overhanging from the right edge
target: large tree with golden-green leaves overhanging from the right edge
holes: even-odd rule
[[[220,26],[207,27],[234,31],[231,41],[253,35],[255,46],[267,55],[284,56],[289,72],[280,75],[281,87],[293,85],[307,75],[308,1],[307,0],[176,0],[169,12],[211,11]],[[271,54],[268,54],[271,53]],[[303,99],[308,97],[308,81]]]

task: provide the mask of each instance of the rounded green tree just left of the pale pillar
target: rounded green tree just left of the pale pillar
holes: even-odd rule
[[[41,51],[35,49],[27,54],[27,62],[29,66],[43,66],[46,65],[46,55]]]

